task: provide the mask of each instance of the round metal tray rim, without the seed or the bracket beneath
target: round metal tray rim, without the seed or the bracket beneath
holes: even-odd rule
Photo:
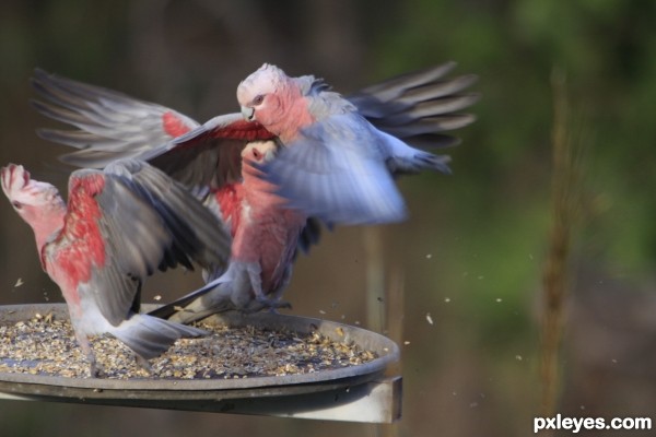
[[[143,306],[144,310],[154,306]],[[68,319],[65,304],[0,306],[0,324],[30,320],[36,314],[51,312]],[[262,376],[244,379],[103,379],[0,373],[0,393],[10,398],[90,402],[134,406],[212,410],[208,402],[230,399],[305,394],[345,389],[379,378],[399,358],[399,349],[391,340],[361,328],[297,316],[271,312],[216,315],[206,321],[232,327],[286,329],[298,333],[318,331],[333,341],[353,342],[376,358],[361,365],[312,374]],[[5,395],[7,397],[7,395]],[[203,406],[204,405],[204,406]]]

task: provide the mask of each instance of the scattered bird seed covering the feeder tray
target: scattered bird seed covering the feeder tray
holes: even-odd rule
[[[300,334],[254,327],[200,324],[210,332],[178,340],[165,354],[140,367],[121,342],[92,339],[102,377],[115,379],[235,379],[309,374],[355,366],[376,355],[317,332]],[[338,333],[339,334],[339,333]],[[343,334],[343,333],[342,333]],[[89,378],[89,364],[68,320],[36,317],[0,326],[0,373]]]

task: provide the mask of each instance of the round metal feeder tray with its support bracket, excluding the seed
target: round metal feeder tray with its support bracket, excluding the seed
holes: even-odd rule
[[[144,310],[154,306],[144,305]],[[51,312],[68,319],[65,304],[0,306],[0,324]],[[377,354],[358,366],[313,374],[251,377],[245,379],[134,379],[66,378],[0,373],[0,399],[55,401],[98,405],[344,422],[391,423],[401,415],[401,377],[386,376],[399,359],[391,340],[361,328],[332,321],[271,312],[215,315],[206,321],[232,327],[254,326],[298,333],[318,331],[335,341],[354,342]],[[340,334],[337,334],[338,328]],[[1,357],[0,357],[1,359]]]

